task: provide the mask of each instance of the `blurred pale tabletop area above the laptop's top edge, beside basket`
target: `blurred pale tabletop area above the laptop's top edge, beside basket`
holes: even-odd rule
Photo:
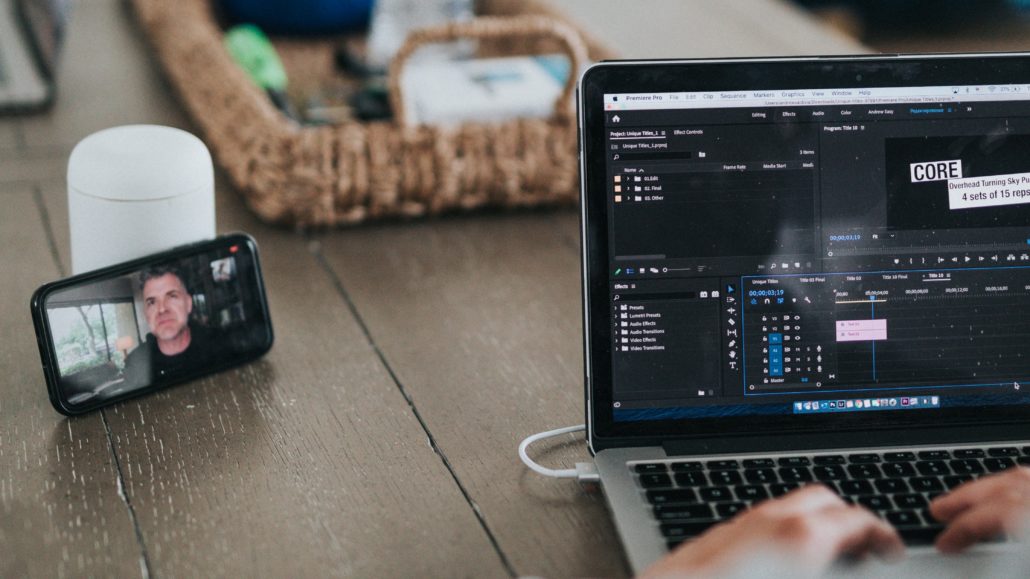
[[[625,59],[859,54],[788,0],[548,0]]]

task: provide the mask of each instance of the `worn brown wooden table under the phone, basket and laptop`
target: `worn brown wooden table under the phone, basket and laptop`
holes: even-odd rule
[[[616,9],[563,4],[594,19]],[[665,7],[710,5],[684,4]],[[714,10],[717,29],[736,26],[753,54],[790,45],[726,21],[745,4]],[[769,5],[822,39],[808,48],[849,52]],[[627,573],[603,498],[528,473],[515,453],[529,434],[583,421],[573,211],[301,235],[258,222],[219,179],[218,230],[262,247],[272,351],[57,414],[29,297],[69,273],[71,146],[114,125],[191,130],[121,3],[78,3],[65,56],[56,108],[0,121],[0,576]],[[588,458],[582,437],[537,453]]]

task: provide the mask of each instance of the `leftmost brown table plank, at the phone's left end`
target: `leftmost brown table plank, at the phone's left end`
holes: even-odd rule
[[[34,194],[0,188],[0,576],[138,576],[102,417],[50,408],[29,298],[58,277]]]

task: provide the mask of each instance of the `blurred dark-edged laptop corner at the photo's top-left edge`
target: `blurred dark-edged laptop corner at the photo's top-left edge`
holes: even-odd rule
[[[65,0],[0,0],[0,113],[53,103],[67,13]]]

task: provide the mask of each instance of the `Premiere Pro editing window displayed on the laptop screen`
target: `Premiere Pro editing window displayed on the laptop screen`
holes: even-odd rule
[[[616,420],[1030,388],[1030,86],[605,95]]]

